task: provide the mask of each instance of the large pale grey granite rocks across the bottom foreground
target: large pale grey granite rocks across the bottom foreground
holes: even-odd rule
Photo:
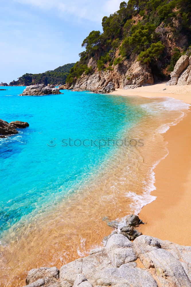
[[[25,287],[191,287],[190,264],[191,247],[146,235],[131,242],[114,234],[106,247],[91,250],[60,271],[32,269]]]

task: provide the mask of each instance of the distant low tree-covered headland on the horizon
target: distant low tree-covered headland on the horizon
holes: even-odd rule
[[[19,77],[17,81],[11,82],[9,86],[30,86],[35,84],[65,84],[67,75],[69,74],[69,71],[74,66],[74,64],[75,63],[66,64],[54,69],[53,71],[47,71],[40,74],[26,73],[25,75],[22,75],[22,77]]]

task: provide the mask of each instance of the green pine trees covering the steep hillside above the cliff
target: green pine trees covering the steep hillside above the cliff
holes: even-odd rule
[[[83,40],[85,51],[71,68],[66,82],[75,83],[93,57],[98,71],[112,70],[133,56],[150,66],[157,79],[168,76],[191,44],[190,0],[129,0],[102,20],[103,32],[91,31]]]

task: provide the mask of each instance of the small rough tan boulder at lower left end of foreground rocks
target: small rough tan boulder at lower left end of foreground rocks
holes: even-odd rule
[[[56,267],[41,267],[37,269],[31,269],[26,278],[26,283],[31,284],[39,278],[59,279],[59,269]]]

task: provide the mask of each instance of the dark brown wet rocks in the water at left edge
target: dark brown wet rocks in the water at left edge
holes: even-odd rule
[[[22,129],[28,126],[29,124],[26,122],[15,121],[7,123],[6,121],[0,119],[0,137],[2,138],[8,135],[14,135],[18,133],[18,131],[15,128]]]

